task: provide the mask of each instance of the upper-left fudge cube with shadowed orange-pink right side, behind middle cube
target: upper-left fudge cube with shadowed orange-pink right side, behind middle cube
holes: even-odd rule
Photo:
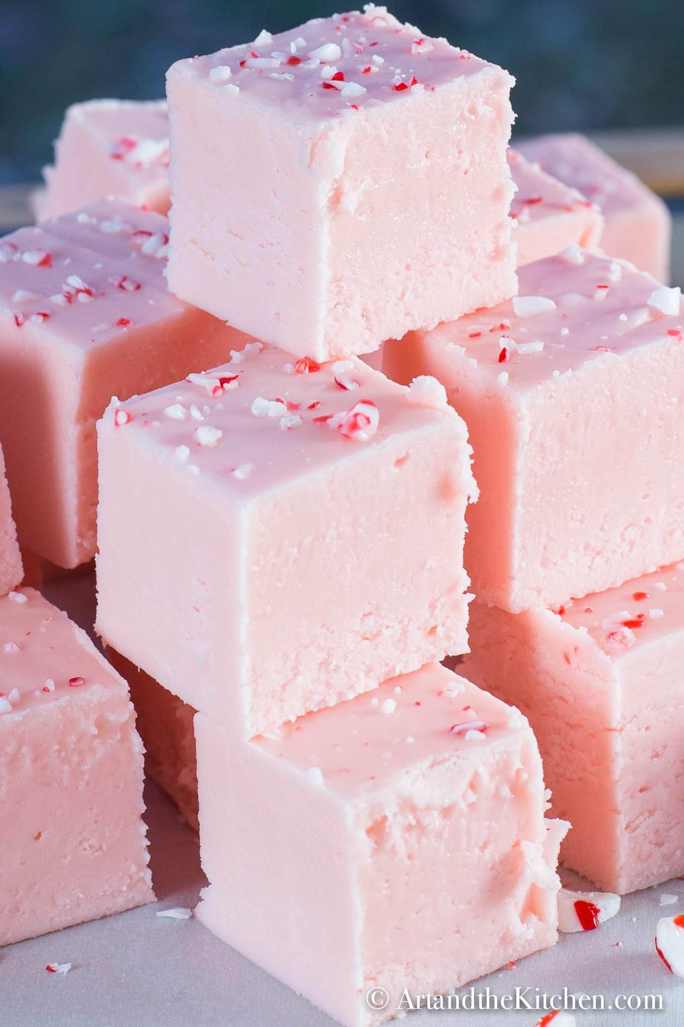
[[[22,545],[61,567],[95,551],[95,422],[228,359],[246,337],[176,300],[168,222],[123,200],[0,239],[0,438]]]

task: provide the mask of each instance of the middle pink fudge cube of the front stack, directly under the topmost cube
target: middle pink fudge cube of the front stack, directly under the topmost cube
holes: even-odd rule
[[[467,648],[475,484],[438,382],[249,343],[98,433],[97,631],[240,736]]]

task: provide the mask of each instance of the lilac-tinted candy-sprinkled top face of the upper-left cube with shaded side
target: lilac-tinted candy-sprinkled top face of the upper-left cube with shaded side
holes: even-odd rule
[[[0,239],[0,311],[83,347],[186,309],[166,287],[168,222],[106,199]]]

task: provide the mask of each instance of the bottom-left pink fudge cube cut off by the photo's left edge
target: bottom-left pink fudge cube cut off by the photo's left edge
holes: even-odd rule
[[[153,902],[126,683],[33,588],[0,599],[0,945]]]

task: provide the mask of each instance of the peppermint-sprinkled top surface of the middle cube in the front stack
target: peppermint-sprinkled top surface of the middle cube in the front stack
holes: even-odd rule
[[[357,357],[317,364],[260,342],[184,382],[123,404],[114,398],[105,419],[240,498],[356,459],[402,431],[444,423],[467,436],[434,378],[406,388]]]

